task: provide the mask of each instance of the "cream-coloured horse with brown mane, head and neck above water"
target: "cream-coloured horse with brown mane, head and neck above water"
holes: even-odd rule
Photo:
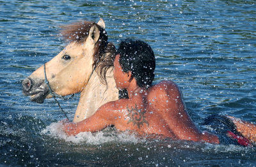
[[[62,26],[61,35],[70,43],[24,79],[22,91],[38,103],[51,98],[51,91],[61,97],[80,92],[73,119],[76,123],[92,116],[102,104],[125,94],[117,90],[113,78],[116,49],[108,42],[104,20]]]

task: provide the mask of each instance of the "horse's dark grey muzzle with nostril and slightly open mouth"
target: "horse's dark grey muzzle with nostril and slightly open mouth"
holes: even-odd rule
[[[27,77],[22,81],[22,91],[25,96],[31,96],[33,102],[43,103],[46,96],[49,94],[49,88],[42,79],[31,79]]]

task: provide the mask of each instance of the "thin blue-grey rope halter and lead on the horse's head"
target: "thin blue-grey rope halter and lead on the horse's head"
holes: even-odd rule
[[[90,77],[89,77],[89,79],[88,79],[88,82],[90,81],[90,78],[92,77],[92,74],[93,74],[95,68],[96,68],[96,67],[93,68],[92,73],[91,73],[91,75],[90,75]],[[47,76],[46,76],[45,63],[44,63],[44,78],[45,78],[45,79],[44,79],[44,82],[45,82],[45,84],[47,84],[47,86],[48,86],[48,88],[49,88],[49,91],[50,91],[49,93],[52,95],[52,97],[54,98],[55,102],[58,104],[58,106],[59,106],[59,108],[61,109],[62,113],[66,116],[67,120],[70,121],[70,120],[68,119],[68,116],[67,116],[67,114],[65,113],[64,109],[60,106],[60,103],[58,102],[57,97],[60,98],[60,99],[63,99],[63,100],[69,100],[69,99],[71,99],[72,97],[74,97],[74,93],[73,93],[70,97],[62,97],[61,95],[58,95],[57,93],[55,93],[54,91],[52,91],[51,86],[49,85],[49,81],[48,81]]]

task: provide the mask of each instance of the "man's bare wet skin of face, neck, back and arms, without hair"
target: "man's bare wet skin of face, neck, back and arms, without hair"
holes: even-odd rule
[[[124,72],[120,55],[114,62],[116,87],[127,89],[129,99],[119,99],[101,106],[97,112],[79,123],[65,123],[65,132],[97,132],[109,125],[118,131],[134,131],[143,136],[161,135],[173,139],[186,139],[219,143],[218,137],[199,131],[186,112],[182,93],[172,81],[144,88],[131,71]]]

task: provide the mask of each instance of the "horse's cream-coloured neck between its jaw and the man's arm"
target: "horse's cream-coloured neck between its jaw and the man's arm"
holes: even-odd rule
[[[97,73],[93,72],[88,84],[81,92],[73,122],[80,122],[92,116],[106,102],[118,99],[118,90],[115,87],[112,68],[109,68],[106,76],[108,89],[106,85],[100,83]]]

